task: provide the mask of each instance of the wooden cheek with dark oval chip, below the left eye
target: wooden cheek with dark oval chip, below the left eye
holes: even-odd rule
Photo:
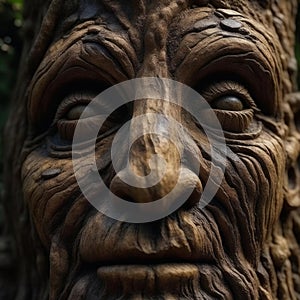
[[[66,207],[78,193],[71,159],[49,158],[41,149],[31,152],[22,166],[23,194],[35,228],[46,247]]]

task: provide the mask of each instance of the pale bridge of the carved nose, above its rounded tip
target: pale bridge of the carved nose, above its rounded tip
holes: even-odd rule
[[[162,99],[142,99],[135,101],[133,107],[133,120],[139,117],[141,122],[132,122],[130,127],[131,167],[140,176],[164,173],[165,181],[173,182],[183,153],[178,127],[174,126],[180,123],[180,107]]]

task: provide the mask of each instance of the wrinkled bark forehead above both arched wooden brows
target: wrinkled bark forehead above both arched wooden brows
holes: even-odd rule
[[[286,60],[294,58],[294,36],[291,33],[294,30],[297,0],[288,3],[276,0],[37,0],[36,2],[39,8],[33,10],[28,5],[27,10],[31,12],[27,17],[25,14],[25,19],[29,19],[27,23],[32,24],[28,28],[34,25],[33,40],[37,41],[29,59],[32,61],[32,70],[44,56],[47,49],[45,45],[48,47],[74,31],[75,26],[88,20],[95,20],[99,25],[105,25],[115,32],[129,31],[134,45],[144,39],[145,32],[163,32],[160,27],[172,29],[172,25],[176,26],[178,19],[184,19],[191,12],[195,14],[197,8],[232,10],[245,18],[255,20],[263,27],[264,32],[277,35],[279,44],[283,45],[281,52],[285,52],[288,56]],[[184,26],[184,23],[180,23],[180,26]],[[169,30],[165,34],[169,35]],[[28,35],[32,35],[32,32],[28,32]],[[272,38],[274,39],[274,36]],[[288,65],[289,62],[284,63]]]

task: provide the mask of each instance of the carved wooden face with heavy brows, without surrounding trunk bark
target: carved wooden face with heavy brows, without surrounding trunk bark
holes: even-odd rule
[[[268,10],[233,2],[82,1],[57,24],[29,87],[29,151],[22,167],[25,201],[49,255],[50,299],[277,297],[270,245],[287,177],[287,71]],[[164,180],[144,191],[123,184],[109,150],[127,120],[153,111],[176,116],[201,153],[191,153],[200,173],[187,170],[185,177],[199,187],[192,201],[156,222],[122,223],[83,197],[72,138],[98,93],[150,76],[196,89],[214,109],[232,154],[219,153],[224,179],[200,209],[196,200],[211,168],[201,126],[182,109],[149,99],[121,107],[101,129],[96,159],[107,186],[127,200],[151,202],[164,195],[178,166],[176,145],[145,135],[132,149],[133,168],[146,175],[149,156],[159,153],[167,161]],[[163,126],[153,122],[143,126]],[[88,172],[90,163],[84,167]],[[161,168],[158,162],[152,167]]]

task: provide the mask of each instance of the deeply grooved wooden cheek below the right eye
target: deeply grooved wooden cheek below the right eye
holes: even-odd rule
[[[285,149],[282,141],[263,134],[259,141],[243,149],[239,155],[244,165],[244,184],[251,191],[257,234],[263,240],[271,233],[283,206]]]

